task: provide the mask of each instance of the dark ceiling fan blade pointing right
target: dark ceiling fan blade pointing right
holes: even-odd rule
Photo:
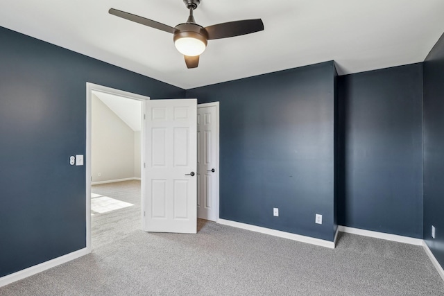
[[[262,19],[244,19],[205,27],[208,40],[255,33],[264,30]]]

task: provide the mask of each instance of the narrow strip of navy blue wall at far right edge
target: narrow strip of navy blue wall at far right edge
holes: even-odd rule
[[[424,239],[444,266],[444,35],[424,62]]]

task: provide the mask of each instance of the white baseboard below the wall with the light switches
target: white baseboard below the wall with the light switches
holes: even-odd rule
[[[0,287],[11,284],[14,281],[19,281],[20,279],[24,279],[25,277],[31,277],[31,275],[35,275],[36,273],[42,272],[44,270],[48,270],[49,268],[56,267],[57,265],[67,263],[68,261],[77,259],[81,256],[85,256],[88,254],[87,248],[66,254],[64,256],[60,256],[58,258],[31,266],[30,268],[26,268],[24,270],[20,270],[14,272],[10,275],[6,275],[4,277],[0,277]]]

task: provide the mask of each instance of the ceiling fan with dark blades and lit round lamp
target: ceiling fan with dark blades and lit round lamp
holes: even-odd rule
[[[174,28],[114,8],[111,8],[109,12],[111,15],[116,15],[117,17],[122,17],[123,19],[135,21],[136,23],[173,34],[176,49],[184,55],[188,69],[198,66],[199,55],[205,51],[207,40],[234,37],[264,30],[262,19],[230,21],[228,23],[216,24],[204,28],[196,24],[193,16],[193,11],[198,7],[200,0],[183,1],[189,9],[189,17],[185,23],[178,24]]]

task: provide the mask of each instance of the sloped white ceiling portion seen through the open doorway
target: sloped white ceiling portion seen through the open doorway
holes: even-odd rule
[[[142,103],[130,98],[92,91],[105,105],[108,106],[132,130],[140,131],[142,128]]]

